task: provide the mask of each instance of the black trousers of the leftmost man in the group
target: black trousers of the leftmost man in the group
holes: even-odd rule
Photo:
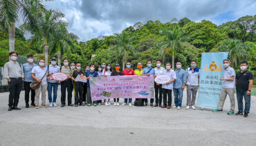
[[[10,79],[9,87],[9,107],[17,107],[19,103],[19,94],[22,90],[22,79]]]

